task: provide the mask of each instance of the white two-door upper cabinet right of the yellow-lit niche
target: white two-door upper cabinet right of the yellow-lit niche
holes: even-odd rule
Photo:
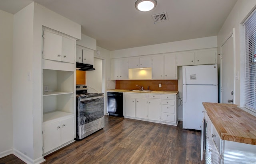
[[[154,55],[152,69],[153,80],[178,79],[175,54]]]

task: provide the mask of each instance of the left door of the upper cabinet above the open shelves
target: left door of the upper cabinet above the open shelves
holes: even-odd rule
[[[44,31],[43,58],[62,61],[62,36]]]

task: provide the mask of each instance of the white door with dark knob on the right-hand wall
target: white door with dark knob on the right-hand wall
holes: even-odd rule
[[[221,47],[221,102],[234,100],[234,41],[232,35]]]

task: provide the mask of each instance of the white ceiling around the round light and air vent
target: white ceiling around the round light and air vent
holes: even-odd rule
[[[216,36],[237,0],[157,0],[150,12],[136,0],[0,0],[0,10],[15,14],[32,1],[82,25],[97,46],[112,50]],[[167,12],[168,21],[152,15]]]

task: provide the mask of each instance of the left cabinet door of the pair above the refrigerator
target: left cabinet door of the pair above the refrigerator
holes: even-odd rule
[[[194,53],[176,54],[177,66],[194,65]]]

